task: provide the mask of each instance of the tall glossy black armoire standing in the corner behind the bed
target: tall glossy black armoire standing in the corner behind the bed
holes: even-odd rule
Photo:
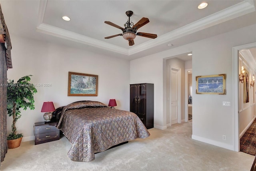
[[[130,111],[147,129],[154,127],[154,84],[130,84]]]

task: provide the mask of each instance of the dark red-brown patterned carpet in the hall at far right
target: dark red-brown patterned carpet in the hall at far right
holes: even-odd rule
[[[256,119],[240,138],[240,151],[250,155],[256,155]]]

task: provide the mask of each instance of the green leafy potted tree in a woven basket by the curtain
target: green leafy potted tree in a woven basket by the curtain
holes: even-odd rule
[[[30,77],[32,75],[20,78],[17,83],[14,80],[8,80],[7,86],[7,112],[12,116],[12,133],[7,136],[7,143],[9,148],[16,148],[20,146],[22,140],[22,133],[16,133],[16,121],[21,117],[20,108],[26,110],[34,107],[34,93],[37,92],[33,84],[30,84]]]

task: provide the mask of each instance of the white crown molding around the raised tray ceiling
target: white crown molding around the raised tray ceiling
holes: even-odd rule
[[[38,32],[49,34],[59,38],[64,38],[67,40],[72,40],[74,42],[86,44],[89,46],[102,48],[104,50],[109,50],[109,51],[116,52],[119,54],[124,54],[127,56],[142,52],[144,50],[148,50],[150,48],[153,48],[154,46],[158,46],[166,42],[170,42],[172,40],[181,38],[183,36],[187,36],[189,34],[203,30],[205,28],[214,26],[216,24],[226,22],[238,16],[242,16],[250,12],[254,12],[256,10],[254,7],[254,3],[251,0],[249,1],[246,0],[234,6],[226,8],[222,11],[216,12],[210,16],[202,18],[196,22],[192,22],[191,24],[188,24],[186,26],[173,30],[172,32],[159,36],[154,40],[149,40],[133,48],[126,49],[120,46],[116,46],[100,40],[96,40],[94,38],[84,36],[81,34],[70,32],[68,30],[64,30],[58,27],[50,26],[48,24],[44,24],[43,18],[44,18],[44,13],[46,9],[46,4],[47,4],[47,0],[40,0],[39,12],[38,12],[38,26],[36,28]]]

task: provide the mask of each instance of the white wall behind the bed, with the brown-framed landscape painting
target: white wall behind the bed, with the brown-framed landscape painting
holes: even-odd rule
[[[44,121],[41,111],[44,101],[53,101],[55,108],[78,100],[101,101],[108,105],[109,99],[116,99],[117,109],[128,110],[130,62],[102,56],[81,49],[28,40],[10,35],[12,42],[13,68],[7,72],[8,79],[16,82],[26,75],[33,75],[32,84],[51,84],[50,87],[36,87],[35,109],[22,111],[17,121],[17,132],[24,134],[24,141],[34,139],[34,122]],[[68,97],[68,72],[98,75],[98,96]],[[12,118],[8,117],[8,133]]]

